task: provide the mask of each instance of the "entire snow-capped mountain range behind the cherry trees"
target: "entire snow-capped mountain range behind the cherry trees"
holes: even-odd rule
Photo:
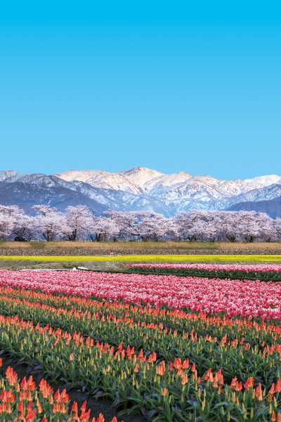
[[[253,209],[276,218],[281,216],[281,176],[218,180],[145,167],[118,173],[70,170],[50,176],[0,171],[0,204],[18,205],[28,213],[33,213],[34,204],[49,204],[60,211],[85,204],[97,214],[107,209],[152,210],[165,216],[191,209]]]

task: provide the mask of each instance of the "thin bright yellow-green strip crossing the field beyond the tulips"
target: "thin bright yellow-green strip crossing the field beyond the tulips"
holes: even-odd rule
[[[2,261],[47,262],[281,262],[281,255],[0,256]]]

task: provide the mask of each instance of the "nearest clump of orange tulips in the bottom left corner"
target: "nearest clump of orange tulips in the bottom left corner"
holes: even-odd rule
[[[2,360],[0,359],[0,367]],[[8,367],[0,375],[0,420],[3,422],[105,422],[103,414],[91,418],[86,402],[78,407],[70,405],[66,390],[56,390],[41,378],[37,385],[32,376],[18,378],[13,368]],[[117,422],[114,417],[111,422]]]

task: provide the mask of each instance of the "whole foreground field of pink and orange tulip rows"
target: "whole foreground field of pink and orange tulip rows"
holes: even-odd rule
[[[195,270],[279,270],[221,266]],[[281,422],[281,283],[271,278],[0,271],[3,360],[44,373],[37,383],[0,368],[0,421]]]

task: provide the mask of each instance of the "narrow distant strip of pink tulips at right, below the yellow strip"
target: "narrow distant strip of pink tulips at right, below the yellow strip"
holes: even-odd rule
[[[133,272],[155,274],[179,274],[200,277],[236,277],[280,280],[281,265],[241,265],[241,264],[131,264]]]

